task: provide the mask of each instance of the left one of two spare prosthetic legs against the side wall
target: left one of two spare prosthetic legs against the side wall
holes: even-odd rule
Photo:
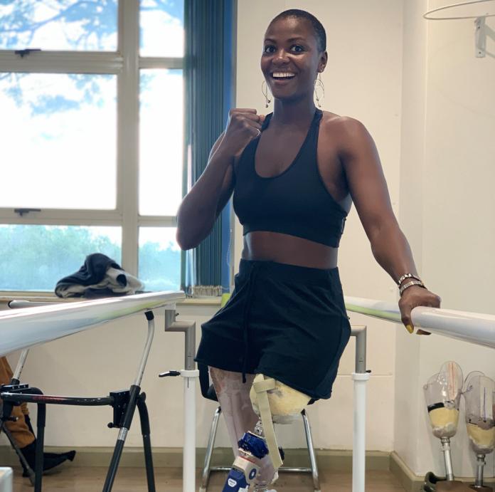
[[[432,484],[440,481],[454,482],[450,438],[457,432],[459,422],[459,401],[462,389],[462,370],[455,362],[445,362],[440,372],[430,377],[423,387],[432,432],[440,439],[445,462],[445,478],[428,472],[425,478],[425,490],[435,490]]]

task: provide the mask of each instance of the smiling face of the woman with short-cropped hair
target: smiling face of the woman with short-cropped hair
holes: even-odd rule
[[[319,51],[312,24],[306,19],[287,17],[268,26],[261,70],[275,98],[312,99],[314,80],[326,60],[326,51]]]

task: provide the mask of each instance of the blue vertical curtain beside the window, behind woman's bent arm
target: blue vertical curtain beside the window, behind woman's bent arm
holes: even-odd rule
[[[186,176],[184,194],[206,167],[234,100],[235,0],[186,0]],[[211,234],[183,256],[183,288],[189,295],[221,295],[230,279],[230,206]]]

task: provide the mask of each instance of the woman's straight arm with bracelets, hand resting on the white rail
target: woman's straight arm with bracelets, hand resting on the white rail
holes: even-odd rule
[[[360,122],[351,118],[342,119],[339,133],[340,157],[348,187],[373,256],[396,283],[405,273],[417,275],[408,240],[393,214],[387,183],[371,135]],[[402,285],[408,281],[403,281]],[[402,321],[409,331],[413,330],[411,310],[418,305],[438,308],[440,298],[420,286],[405,289],[399,308]]]

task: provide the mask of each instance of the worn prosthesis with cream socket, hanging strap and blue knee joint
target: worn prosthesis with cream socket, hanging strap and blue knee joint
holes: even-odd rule
[[[267,454],[275,470],[280,468],[282,456],[275,439],[273,423],[289,424],[311,398],[287,384],[259,374],[252,383],[250,399],[260,420],[254,432],[246,432],[240,439],[239,456],[230,469],[223,492],[247,492],[260,470],[259,460]]]

